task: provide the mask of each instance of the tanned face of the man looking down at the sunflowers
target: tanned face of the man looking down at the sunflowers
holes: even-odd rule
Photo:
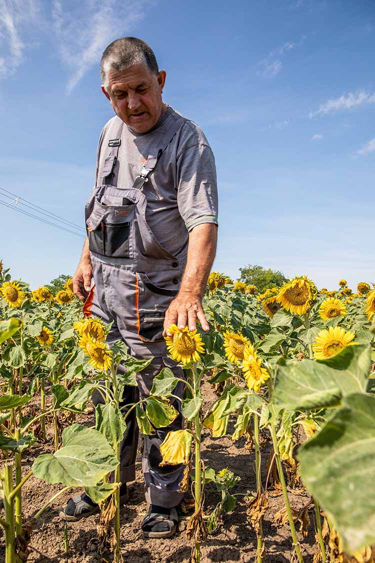
[[[143,64],[132,65],[126,70],[110,70],[107,90],[102,86],[102,91],[124,123],[137,133],[145,133],[160,118],[165,77],[165,70],[155,75]]]

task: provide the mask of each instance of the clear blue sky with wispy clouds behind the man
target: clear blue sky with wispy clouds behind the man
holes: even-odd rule
[[[112,117],[99,61],[125,35],[214,150],[216,270],[375,282],[373,0],[0,0],[0,188],[83,226]],[[83,239],[4,205],[0,220],[14,279],[74,272]]]

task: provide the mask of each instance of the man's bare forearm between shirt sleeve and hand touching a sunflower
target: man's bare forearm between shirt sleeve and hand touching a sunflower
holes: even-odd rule
[[[200,298],[204,296],[217,242],[218,227],[212,223],[197,225],[191,230],[186,269],[179,294],[188,292],[195,293]]]

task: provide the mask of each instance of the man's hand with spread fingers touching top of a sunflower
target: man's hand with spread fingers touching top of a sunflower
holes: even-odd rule
[[[205,332],[210,330],[202,309],[202,298],[193,292],[180,292],[170,303],[165,313],[163,336],[171,336],[168,332],[171,324],[177,324],[180,329],[188,326],[189,330],[195,330],[197,320],[200,321]]]

